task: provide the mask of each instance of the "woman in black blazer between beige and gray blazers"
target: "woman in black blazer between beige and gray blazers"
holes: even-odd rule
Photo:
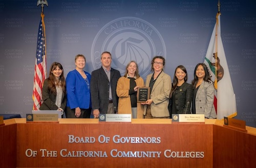
[[[193,86],[186,83],[187,70],[183,65],[175,69],[172,90],[170,91],[170,100],[168,110],[170,118],[172,114],[190,114],[191,101],[193,99]]]

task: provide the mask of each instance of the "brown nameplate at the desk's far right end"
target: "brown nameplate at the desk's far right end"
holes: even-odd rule
[[[245,121],[242,121],[240,119],[234,119],[234,118],[228,118],[224,116],[224,127],[229,127],[235,130],[247,132],[245,128]]]

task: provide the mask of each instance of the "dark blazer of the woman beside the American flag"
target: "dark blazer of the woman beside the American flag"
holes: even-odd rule
[[[40,106],[40,110],[58,110],[58,106],[55,104],[56,102],[56,95],[50,91],[48,87],[48,78],[44,81],[44,86],[42,86],[42,105]],[[65,91],[62,90],[62,97],[61,97],[61,105],[59,108],[65,110],[67,103],[67,97]]]

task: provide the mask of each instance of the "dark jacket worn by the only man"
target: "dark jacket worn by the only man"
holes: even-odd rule
[[[110,81],[106,76],[105,70],[101,66],[99,69],[92,71],[91,93],[92,109],[99,109],[100,113],[105,114],[109,107],[109,87],[111,84],[112,101],[117,109],[118,97],[116,94],[117,81],[121,77],[120,72],[111,68]]]

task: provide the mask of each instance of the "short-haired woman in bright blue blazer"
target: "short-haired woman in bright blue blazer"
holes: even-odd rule
[[[66,78],[67,118],[90,118],[91,115],[91,75],[84,71],[86,57],[79,54],[75,57],[76,68]]]

